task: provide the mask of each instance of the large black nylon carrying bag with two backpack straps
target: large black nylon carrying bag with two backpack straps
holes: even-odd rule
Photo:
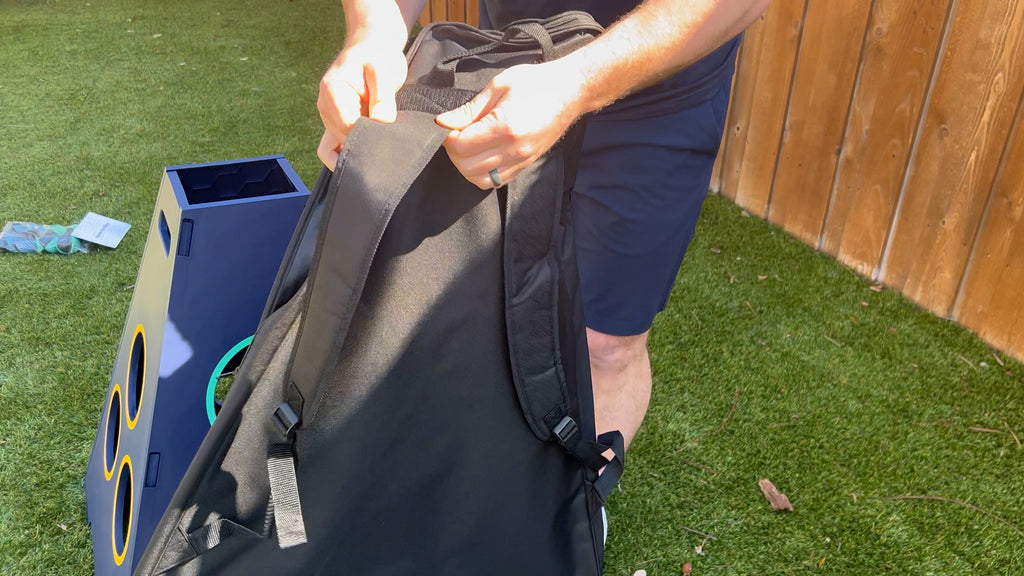
[[[357,122],[317,178],[136,575],[601,573],[622,437],[594,438],[568,205],[582,128],[483,192],[434,122],[599,32],[583,12],[421,32],[398,120]]]

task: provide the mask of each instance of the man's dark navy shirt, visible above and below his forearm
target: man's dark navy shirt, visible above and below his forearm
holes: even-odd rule
[[[498,29],[517,19],[543,18],[566,10],[589,12],[607,28],[638,5],[639,0],[480,0],[480,28]],[[676,75],[606,107],[600,117],[658,116],[708,100],[731,81],[738,45],[737,36]]]

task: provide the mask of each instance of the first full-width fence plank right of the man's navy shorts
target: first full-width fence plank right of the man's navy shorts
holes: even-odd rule
[[[741,99],[737,98],[734,120],[745,125],[730,124],[733,133],[723,167],[725,189],[726,196],[760,216],[768,208],[805,4],[806,0],[771,3],[760,24],[763,30],[749,38],[757,57],[740,63],[736,91]]]

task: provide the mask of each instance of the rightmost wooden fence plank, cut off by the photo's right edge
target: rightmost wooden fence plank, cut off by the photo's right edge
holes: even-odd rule
[[[954,319],[1024,359],[1024,119],[1007,151]]]

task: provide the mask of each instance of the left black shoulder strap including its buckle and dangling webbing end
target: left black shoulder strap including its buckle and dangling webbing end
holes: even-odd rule
[[[267,449],[266,466],[282,548],[306,542],[295,429],[315,417],[318,385],[345,343],[384,231],[446,134],[429,113],[402,111],[394,123],[359,119],[338,158],[309,269],[309,297],[282,390],[285,401],[271,418],[278,440]]]

